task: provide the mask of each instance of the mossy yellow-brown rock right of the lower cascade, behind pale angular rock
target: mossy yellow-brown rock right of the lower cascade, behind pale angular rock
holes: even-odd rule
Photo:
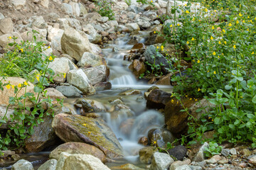
[[[151,164],[153,154],[158,152],[156,147],[144,147],[139,150],[139,160],[144,164]]]

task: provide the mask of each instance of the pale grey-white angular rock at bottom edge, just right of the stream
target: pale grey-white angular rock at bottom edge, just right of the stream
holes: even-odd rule
[[[169,154],[155,152],[153,154],[152,164],[150,170],[165,170],[174,162]]]

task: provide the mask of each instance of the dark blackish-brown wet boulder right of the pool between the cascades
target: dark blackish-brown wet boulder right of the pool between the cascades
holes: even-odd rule
[[[171,100],[171,94],[154,89],[146,98],[146,107],[148,108],[165,108],[166,103]]]

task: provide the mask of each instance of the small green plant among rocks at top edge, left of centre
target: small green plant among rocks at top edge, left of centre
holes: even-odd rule
[[[107,0],[97,0],[97,12],[101,16],[107,16],[110,20],[114,20],[114,11],[112,10],[112,4]]]

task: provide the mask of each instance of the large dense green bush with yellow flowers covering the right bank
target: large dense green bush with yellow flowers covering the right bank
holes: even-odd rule
[[[177,84],[174,91],[205,96],[215,106],[201,118],[205,125],[190,126],[193,137],[198,137],[197,128],[215,130],[218,142],[250,142],[256,147],[255,5],[254,0],[190,0],[171,10],[173,22],[165,25],[164,38],[177,51],[186,51],[186,57],[170,56],[180,66],[171,79]],[[191,67],[182,69],[182,60]]]

